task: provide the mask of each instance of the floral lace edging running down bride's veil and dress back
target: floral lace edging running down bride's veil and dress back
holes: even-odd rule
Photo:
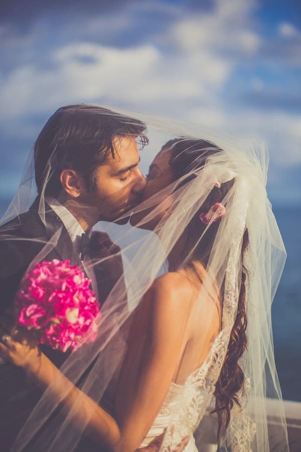
[[[236,208],[236,212],[234,212],[235,234],[232,230],[231,238],[229,238],[231,246],[225,278],[222,330],[213,343],[208,361],[197,372],[191,374],[185,382],[182,398],[179,400],[166,430],[162,452],[176,451],[181,440],[197,428],[205,414],[210,393],[213,394],[215,391],[215,384],[226,358],[231,329],[237,312],[239,297],[237,260],[240,253],[240,240],[245,230],[250,189],[248,181],[237,179],[238,187],[235,206],[233,206]],[[245,387],[237,394],[241,407],[245,405],[243,399],[249,385],[249,379],[245,378]],[[251,421],[246,408],[241,407],[235,404],[231,410],[227,439],[233,452],[252,452],[251,442],[254,440],[256,425]]]

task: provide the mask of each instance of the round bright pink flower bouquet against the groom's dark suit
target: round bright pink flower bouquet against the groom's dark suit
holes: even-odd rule
[[[69,260],[36,264],[16,296],[17,323],[35,330],[41,344],[63,352],[94,341],[100,312],[89,285],[90,280]]]

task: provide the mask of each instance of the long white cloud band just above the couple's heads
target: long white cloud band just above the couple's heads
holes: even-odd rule
[[[163,100],[174,104],[208,97],[232,68],[230,62],[197,50],[166,56],[152,45],[120,50],[92,43],[58,48],[49,62],[48,69],[24,65],[2,77],[3,121],[100,98],[147,108]]]

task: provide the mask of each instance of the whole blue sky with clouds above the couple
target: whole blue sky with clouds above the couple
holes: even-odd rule
[[[265,140],[274,204],[301,201],[298,1],[2,2],[0,197],[53,111],[89,102]]]

